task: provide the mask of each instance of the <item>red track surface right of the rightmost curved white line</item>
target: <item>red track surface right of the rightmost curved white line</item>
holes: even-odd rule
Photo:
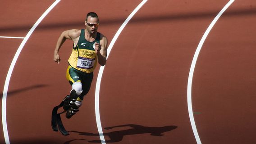
[[[201,51],[193,94],[203,144],[256,143],[255,6],[236,0]]]

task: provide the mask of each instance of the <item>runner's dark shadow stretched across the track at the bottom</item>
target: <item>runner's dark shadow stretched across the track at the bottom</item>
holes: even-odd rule
[[[178,127],[178,126],[148,127],[148,126],[128,124],[128,125],[121,125],[121,126],[106,127],[105,130],[110,130],[110,129],[117,128],[117,127],[126,127],[126,126],[129,126],[132,128],[101,134],[104,136],[108,136],[110,138],[109,140],[105,140],[105,143],[119,142],[123,139],[123,136],[125,136],[125,135],[137,135],[137,134],[150,133],[150,135],[153,135],[153,136],[163,136],[164,134],[162,134],[162,133],[170,131],[170,130],[174,130]],[[97,133],[94,134],[94,133],[88,133],[88,132],[78,132],[78,131],[70,131],[70,132],[77,132],[77,133],[79,133],[78,135],[88,135],[88,136],[99,136],[100,135]],[[105,137],[105,139],[108,139],[108,138]],[[76,140],[76,139],[73,139],[71,141],[74,141],[74,140]],[[88,140],[88,139],[80,139],[80,140]],[[69,144],[71,141],[67,141],[64,144]],[[101,140],[89,140],[88,142],[101,143],[102,141]]]

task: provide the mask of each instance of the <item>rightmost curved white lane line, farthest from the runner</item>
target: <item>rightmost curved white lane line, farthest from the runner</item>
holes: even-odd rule
[[[223,9],[221,9],[221,11],[219,12],[219,14],[214,18],[214,20],[210,23],[210,26],[207,28],[206,32],[204,33],[202,39],[199,42],[199,45],[197,46],[197,50],[194,54],[193,60],[192,60],[192,64],[190,67],[190,71],[189,71],[189,75],[188,75],[188,82],[187,82],[187,108],[188,108],[188,114],[189,114],[189,119],[190,119],[190,123],[192,126],[192,130],[194,133],[194,136],[197,140],[197,144],[201,144],[201,140],[199,138],[199,135],[197,133],[197,127],[195,124],[195,120],[194,120],[194,116],[193,116],[193,110],[192,110],[192,79],[193,79],[193,74],[194,74],[194,70],[195,70],[195,66],[197,63],[197,58],[199,55],[199,52],[203,46],[203,43],[206,40],[206,37],[208,36],[210,30],[212,29],[212,27],[215,25],[215,23],[217,22],[217,20],[220,18],[220,16],[225,12],[226,9],[229,8],[229,6],[234,2],[235,0],[230,0]]]

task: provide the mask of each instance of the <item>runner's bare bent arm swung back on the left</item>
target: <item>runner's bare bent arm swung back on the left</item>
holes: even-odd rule
[[[53,55],[53,61],[59,63],[60,62],[60,57],[59,57],[59,49],[63,45],[66,39],[73,40],[74,43],[77,42],[77,39],[80,36],[80,30],[78,29],[72,29],[72,30],[67,30],[63,31],[61,35],[59,36],[59,39],[57,41],[55,50],[54,50],[54,55]]]

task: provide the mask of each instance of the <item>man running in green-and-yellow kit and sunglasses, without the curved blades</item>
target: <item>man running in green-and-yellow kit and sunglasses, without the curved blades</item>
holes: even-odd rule
[[[82,105],[83,97],[88,93],[93,78],[93,70],[97,62],[104,66],[107,56],[107,38],[97,31],[99,18],[96,13],[90,12],[85,20],[85,29],[63,31],[59,36],[54,51],[53,60],[60,62],[59,49],[66,39],[73,40],[73,50],[69,57],[69,66],[66,78],[72,85],[70,98],[64,103],[67,110],[66,117],[71,118]]]

